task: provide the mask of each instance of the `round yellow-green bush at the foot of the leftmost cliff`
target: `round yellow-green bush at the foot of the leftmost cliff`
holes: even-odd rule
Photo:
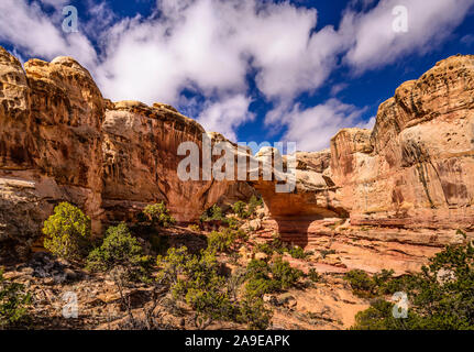
[[[79,208],[62,202],[44,222],[44,248],[59,257],[80,260],[90,245],[90,218]]]

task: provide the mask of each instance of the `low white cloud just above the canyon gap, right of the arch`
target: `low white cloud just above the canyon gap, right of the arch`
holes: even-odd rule
[[[296,105],[287,114],[287,142],[296,142],[299,151],[320,151],[329,146],[339,130],[354,125],[365,109],[346,105],[338,99],[301,110]]]

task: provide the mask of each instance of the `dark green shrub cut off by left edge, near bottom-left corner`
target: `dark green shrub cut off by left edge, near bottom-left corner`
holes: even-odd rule
[[[0,270],[0,330],[24,323],[30,304],[31,296],[24,293],[24,286],[3,278],[3,271]]]

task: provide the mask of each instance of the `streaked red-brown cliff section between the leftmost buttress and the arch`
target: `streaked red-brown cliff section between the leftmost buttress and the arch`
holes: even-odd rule
[[[109,103],[102,130],[102,205],[109,221],[131,220],[144,206],[159,200],[178,221],[197,220],[236,186],[225,180],[179,179],[179,144],[196,143],[201,152],[206,131],[169,106]]]

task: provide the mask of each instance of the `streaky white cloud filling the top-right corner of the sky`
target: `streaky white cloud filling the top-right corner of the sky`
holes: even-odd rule
[[[381,0],[368,12],[348,11],[341,32],[352,44],[345,61],[357,73],[379,68],[404,55],[438,46],[463,21],[474,0]],[[408,10],[408,32],[393,30],[395,7]]]

